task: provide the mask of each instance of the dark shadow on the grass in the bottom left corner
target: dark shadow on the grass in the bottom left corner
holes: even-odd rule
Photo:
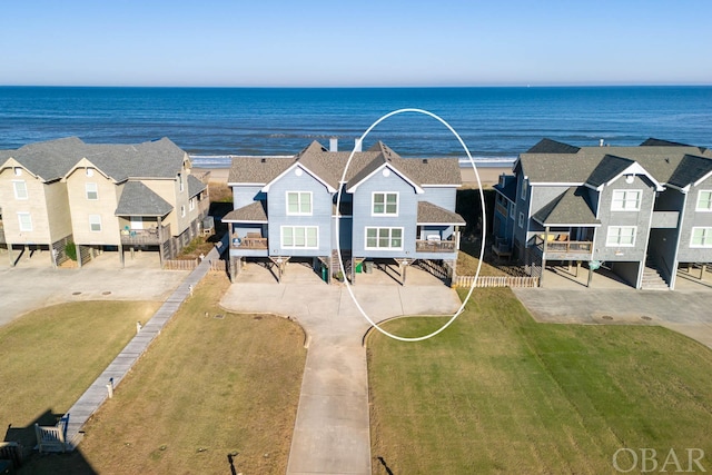
[[[4,434],[4,442],[14,442],[19,445],[18,457],[13,457],[13,468],[19,475],[22,474],[78,474],[96,475],[91,464],[83,457],[81,451],[40,454],[34,451],[37,436],[34,435],[34,424],[40,426],[53,426],[63,416],[47,409],[39,417],[24,427],[13,427],[10,424]],[[1,458],[1,457],[0,457]],[[10,458],[12,459],[12,458]]]

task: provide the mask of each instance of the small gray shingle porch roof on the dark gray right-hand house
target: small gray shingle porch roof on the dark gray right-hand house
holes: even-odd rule
[[[601,224],[586,199],[586,190],[583,187],[568,188],[534,214],[532,218],[542,226],[594,226]]]

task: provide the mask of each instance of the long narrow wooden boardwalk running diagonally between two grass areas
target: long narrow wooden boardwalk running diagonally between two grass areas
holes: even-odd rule
[[[83,435],[82,427],[91,415],[101,407],[109,396],[107,387],[112,382],[116,388],[123,379],[123,376],[134,367],[134,364],[146,352],[151,342],[160,334],[164,326],[172,318],[182,301],[190,295],[190,289],[195,288],[208,274],[212,260],[220,258],[219,250],[227,248],[227,239],[221,246],[212,248],[206,258],[190,273],[178,288],[168,297],[161,307],[154,314],[144,328],[126,345],[126,347],[113,358],[113,362],[99,375],[89,386],[81,397],[68,410],[69,424],[67,425],[67,442],[69,449],[73,451],[81,442]]]

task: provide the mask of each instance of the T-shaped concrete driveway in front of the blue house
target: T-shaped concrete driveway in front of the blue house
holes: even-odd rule
[[[368,375],[362,344],[369,324],[344,285],[326,285],[303,266],[277,284],[248,266],[220,305],[231,311],[295,317],[310,338],[287,474],[370,474]],[[261,281],[260,281],[261,280]],[[376,321],[400,315],[452,315],[455,290],[413,268],[407,285],[374,271],[354,294]],[[394,345],[408,343],[393,342]]]

